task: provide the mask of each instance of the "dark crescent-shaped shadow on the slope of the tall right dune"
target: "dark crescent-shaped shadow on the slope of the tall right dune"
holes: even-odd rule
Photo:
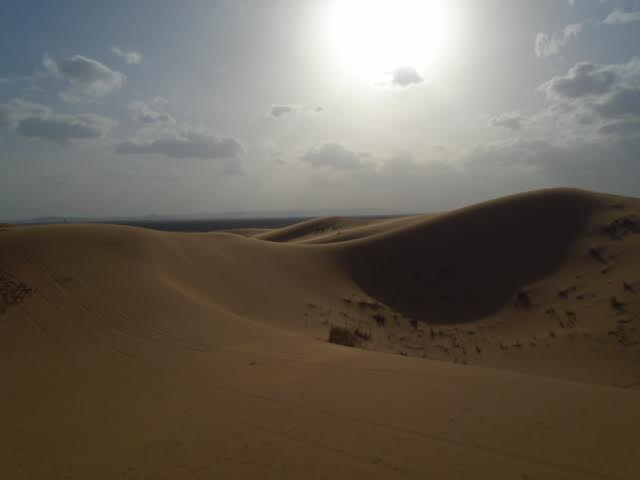
[[[342,253],[355,282],[406,317],[469,322],[556,270],[597,204],[579,190],[520,194],[350,242]]]

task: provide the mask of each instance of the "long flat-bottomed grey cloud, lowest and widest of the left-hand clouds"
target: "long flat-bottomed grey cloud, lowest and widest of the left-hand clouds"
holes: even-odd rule
[[[217,137],[198,131],[185,131],[173,137],[147,142],[124,142],[118,154],[158,154],[171,158],[238,159],[244,154],[242,144],[232,137]]]

